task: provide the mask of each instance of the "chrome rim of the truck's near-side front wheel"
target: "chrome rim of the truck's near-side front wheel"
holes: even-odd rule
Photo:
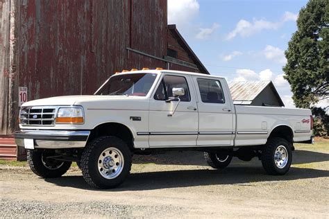
[[[114,179],[124,168],[124,155],[117,148],[107,148],[98,159],[98,169],[102,177]]]

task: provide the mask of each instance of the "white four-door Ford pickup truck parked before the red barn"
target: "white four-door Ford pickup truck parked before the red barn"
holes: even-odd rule
[[[156,150],[199,150],[213,168],[259,157],[283,175],[313,123],[310,109],[233,105],[224,78],[161,69],[116,73],[90,96],[32,100],[19,119],[15,141],[35,174],[60,177],[76,161],[97,188],[118,186],[133,154]]]

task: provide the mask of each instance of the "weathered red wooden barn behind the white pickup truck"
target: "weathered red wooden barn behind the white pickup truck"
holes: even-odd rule
[[[122,69],[208,73],[167,25],[167,0],[0,0],[0,20],[0,159],[16,156],[19,87],[33,100],[93,94]]]

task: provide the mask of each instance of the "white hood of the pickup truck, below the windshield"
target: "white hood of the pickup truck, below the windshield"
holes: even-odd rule
[[[146,98],[139,96],[101,96],[101,95],[75,95],[75,96],[56,96],[51,98],[43,98],[31,100],[24,103],[22,107],[27,106],[47,106],[47,105],[84,105],[88,103],[108,102],[108,100],[131,100],[138,98]]]

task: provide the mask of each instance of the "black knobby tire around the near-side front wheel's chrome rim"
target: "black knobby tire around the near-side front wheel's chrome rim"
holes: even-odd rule
[[[117,148],[124,157],[121,173],[114,179],[106,179],[99,173],[99,156],[106,148]],[[111,189],[119,186],[129,175],[132,163],[132,153],[124,141],[117,137],[105,136],[91,141],[83,150],[81,156],[81,170],[85,182],[98,189]]]

